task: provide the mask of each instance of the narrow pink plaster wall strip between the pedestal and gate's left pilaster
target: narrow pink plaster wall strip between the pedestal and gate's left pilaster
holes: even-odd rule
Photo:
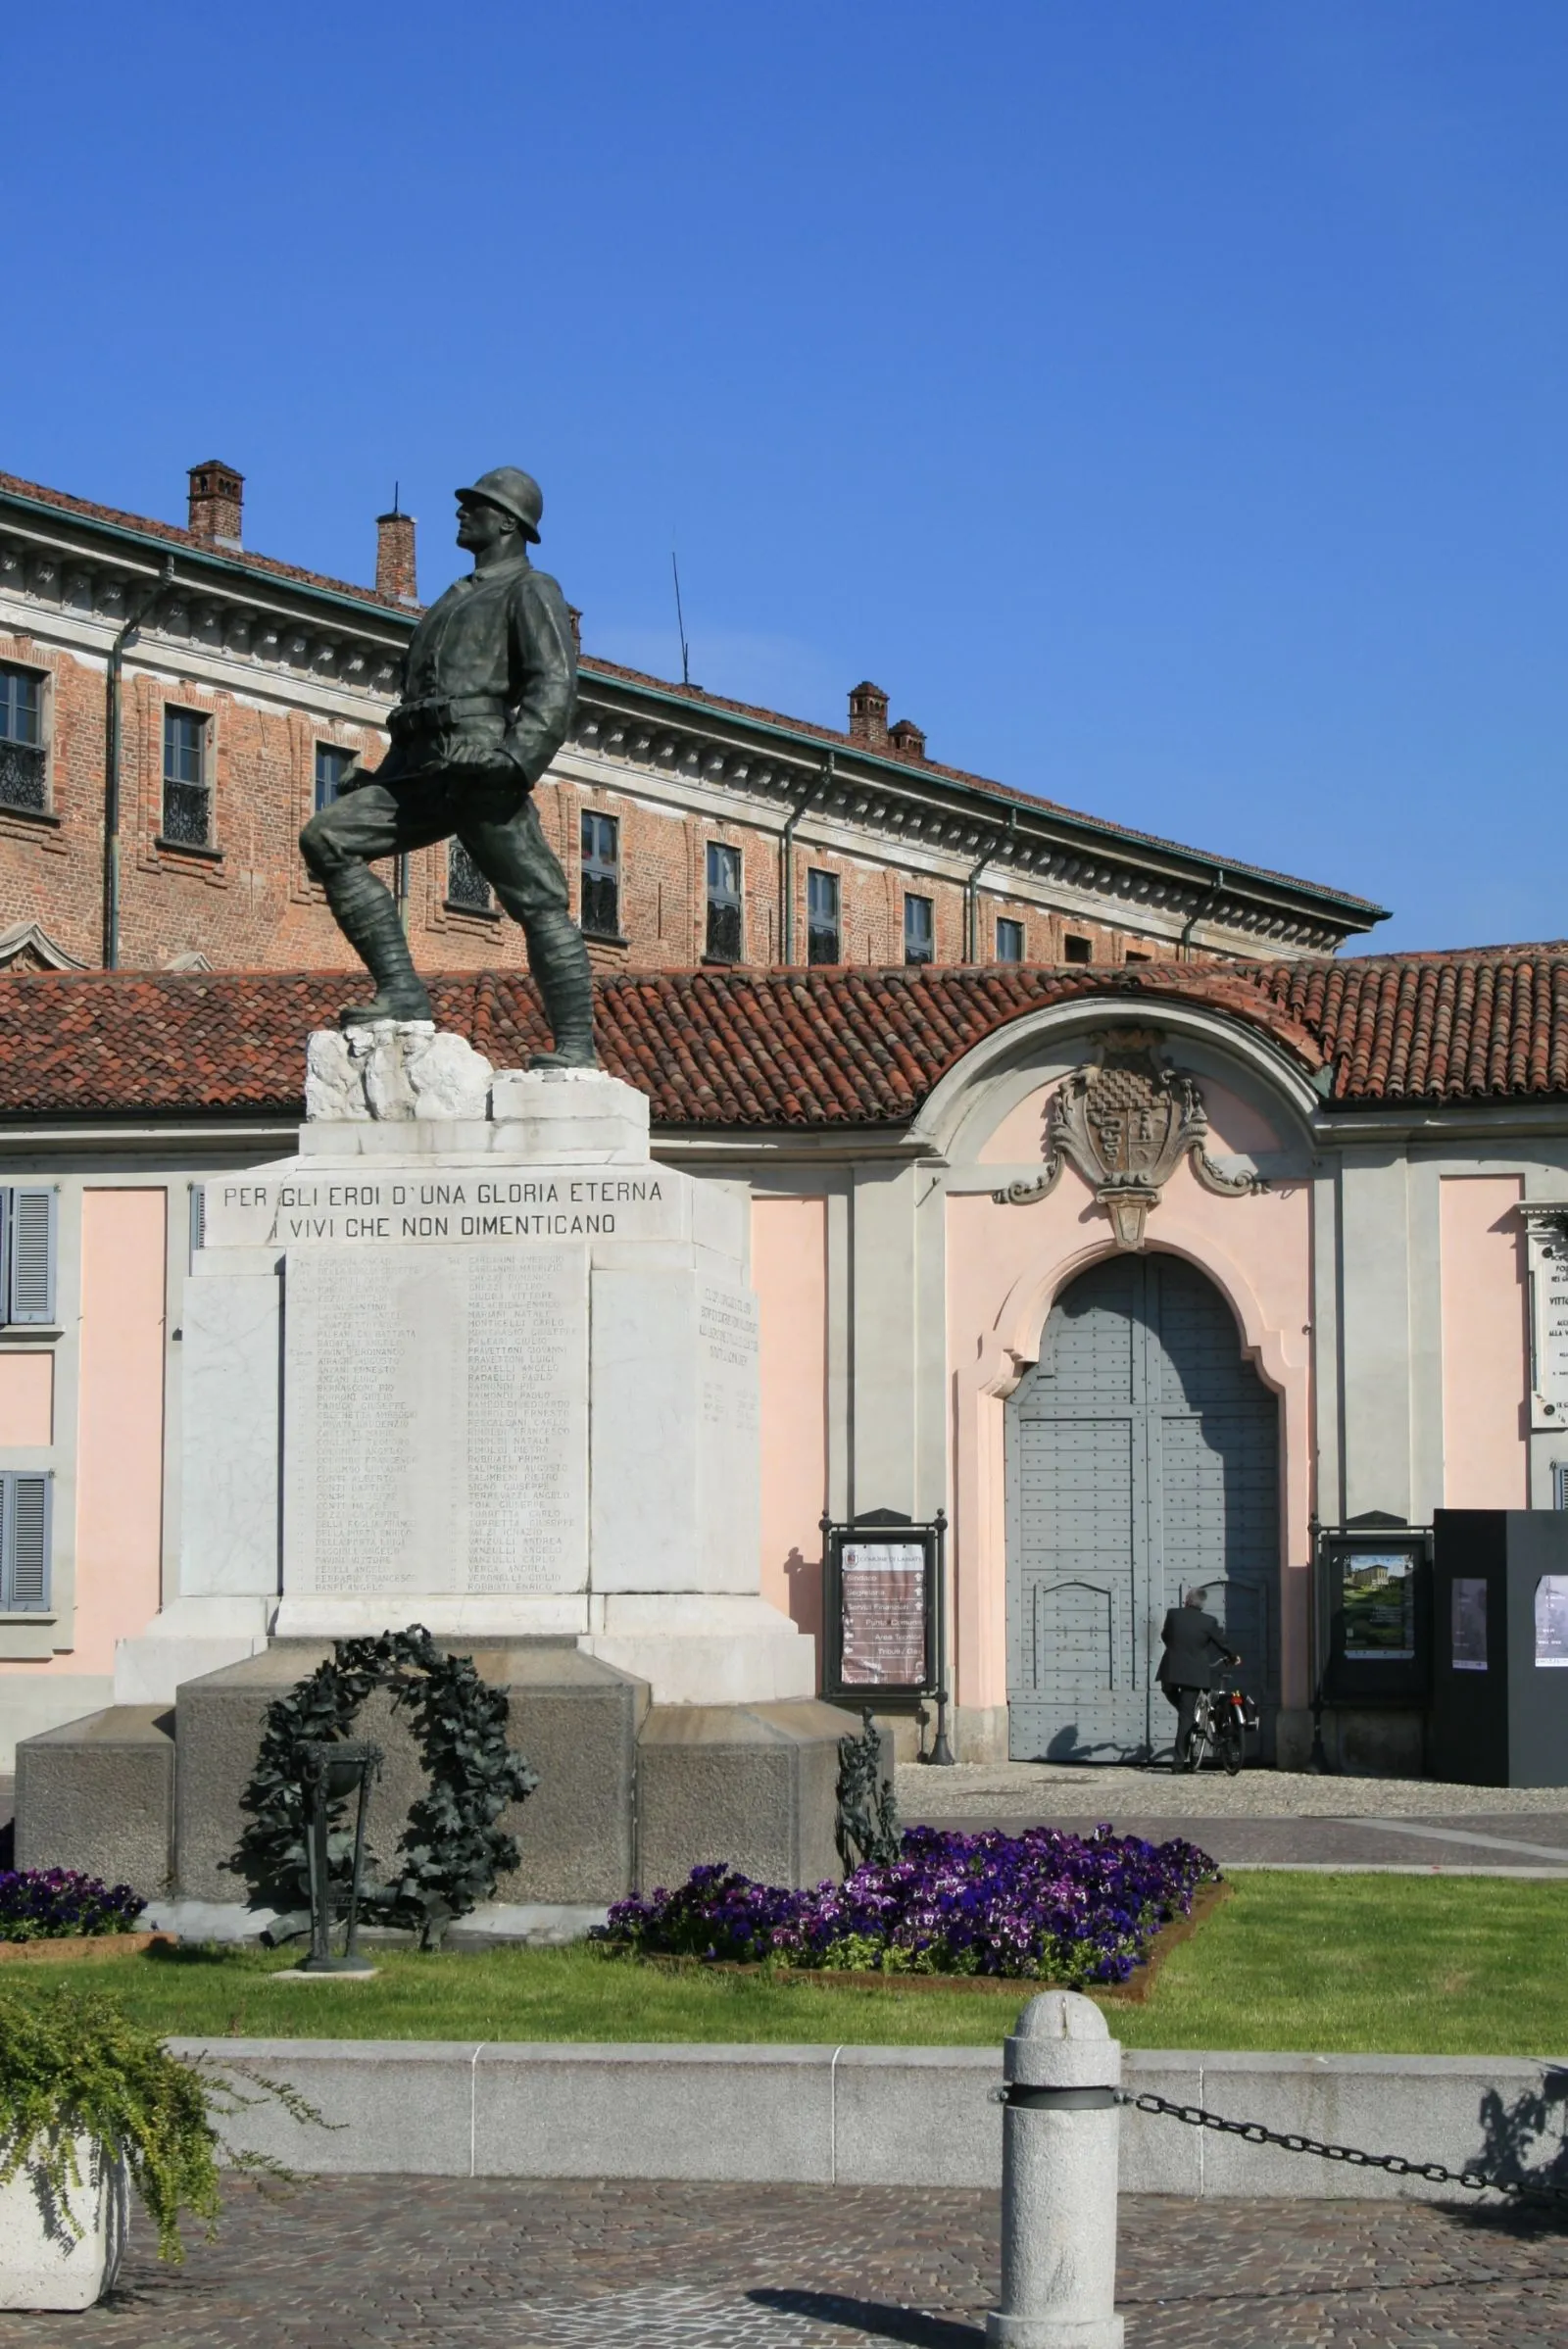
[[[829,1489],[829,1210],[824,1198],[751,1200],[761,1306],[763,1597],[817,1640]]]

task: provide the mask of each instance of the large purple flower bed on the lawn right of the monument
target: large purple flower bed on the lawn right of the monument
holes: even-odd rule
[[[1216,1877],[1195,1844],[1145,1844],[1110,1828],[906,1828],[892,1867],[857,1867],[800,1893],[692,1867],[674,1893],[617,1900],[596,1938],[636,1957],[1124,1983],[1160,1926],[1185,1917]]]

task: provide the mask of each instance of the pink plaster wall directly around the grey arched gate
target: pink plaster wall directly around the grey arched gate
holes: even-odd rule
[[[1204,1083],[1204,1097],[1211,1092],[1221,1088]],[[1232,1130],[1244,1132],[1239,1120]],[[1183,1160],[1148,1219],[1148,1245],[1188,1257],[1209,1273],[1237,1313],[1242,1344],[1261,1379],[1282,1395],[1282,1665],[1284,1703],[1300,1705],[1307,1701],[1305,1562],[1312,1510],[1307,1186],[1216,1198]],[[1038,1355],[1056,1292],[1110,1252],[1110,1224],[1073,1167],[1049,1198],[1030,1207],[998,1207],[986,1193],[948,1200],[955,1663],[962,1705],[1007,1701],[1005,1398]]]

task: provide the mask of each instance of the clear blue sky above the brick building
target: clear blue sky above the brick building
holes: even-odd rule
[[[589,651],[1568,933],[1568,7],[12,12],[0,467],[369,578],[523,463]]]

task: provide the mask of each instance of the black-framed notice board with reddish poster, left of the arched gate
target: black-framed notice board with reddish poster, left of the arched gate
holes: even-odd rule
[[[927,1696],[937,1687],[937,1525],[829,1525],[824,1696]]]

